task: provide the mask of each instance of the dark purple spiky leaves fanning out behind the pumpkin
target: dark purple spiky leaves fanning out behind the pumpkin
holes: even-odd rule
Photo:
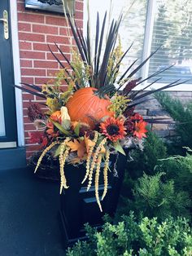
[[[130,87],[128,87],[128,90],[123,90],[123,94],[129,97],[129,99],[131,99],[131,103],[128,105],[128,108],[133,108],[138,104],[141,104],[146,100],[149,100],[146,96],[158,92],[159,90],[168,89],[172,86],[177,86],[181,83],[189,81],[181,81],[181,79],[179,79],[175,82],[169,83],[168,85],[161,86],[159,89],[146,91],[146,89],[149,89],[155,82],[159,82],[161,77],[157,76],[159,76],[161,73],[164,73],[164,71],[166,71],[168,68],[172,68],[171,65],[170,67],[157,71],[151,74],[149,77],[145,77],[143,79],[142,77],[136,77],[139,69],[141,69],[143,65],[146,64],[146,62],[150,60],[153,55],[155,55],[159,48],[151,52],[151,55],[149,55],[146,58],[146,60],[143,60],[141,64],[138,64],[136,68],[134,68],[134,65],[137,64],[138,59],[134,60],[133,63],[125,69],[124,73],[120,75],[120,64],[122,63],[124,57],[129,53],[129,50],[133,46],[132,43],[124,53],[122,51],[119,51],[118,57],[116,57],[116,50],[118,48],[118,31],[122,20],[122,15],[119,16],[118,20],[111,20],[111,24],[109,25],[109,29],[107,32],[107,11],[103,17],[103,20],[101,20],[99,14],[97,14],[97,20],[95,25],[95,41],[92,49],[92,44],[90,42],[90,19],[88,19],[87,21],[87,33],[84,36],[81,28],[78,28],[78,26],[76,25],[76,21],[73,15],[70,14],[69,10],[67,10],[66,13],[69,13],[67,15],[67,20],[72,31],[72,36],[76,42],[76,54],[78,55],[79,61],[81,63],[81,76],[85,77],[85,83],[80,84],[80,82],[78,82],[78,79],[76,78],[76,62],[68,60],[68,57],[63,53],[63,51],[61,51],[61,49],[56,43],[55,46],[59,51],[62,60],[60,60],[60,58],[58,58],[57,55],[55,55],[55,53],[51,50],[50,46],[48,47],[52,55],[55,57],[55,60],[59,62],[60,67],[63,68],[63,70],[68,76],[68,78],[64,78],[64,81],[68,84],[69,80],[71,80],[75,85],[74,90],[78,90],[81,87],[85,86],[91,86],[97,88],[98,95],[100,97],[103,97],[103,95],[106,94],[112,96],[116,93],[116,91],[120,90],[123,86],[129,85]],[[104,34],[106,32],[107,37],[104,40]],[[68,67],[64,63],[67,63]],[[77,70],[77,72],[79,71]],[[135,88],[137,89],[137,86],[141,85],[142,82],[146,82],[148,79],[151,79],[152,77],[156,77],[154,82],[151,82],[145,88],[142,88],[142,90],[132,91]],[[24,84],[24,86],[25,87],[15,87],[32,93],[33,95],[46,98],[46,95],[43,95],[41,93],[41,88],[39,88],[38,86],[28,84]]]

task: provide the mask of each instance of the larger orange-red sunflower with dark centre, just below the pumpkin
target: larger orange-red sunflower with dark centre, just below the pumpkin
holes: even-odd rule
[[[124,127],[124,120],[121,118],[108,117],[100,124],[100,129],[103,135],[106,135],[112,142],[118,139],[124,139],[126,135],[126,128]]]

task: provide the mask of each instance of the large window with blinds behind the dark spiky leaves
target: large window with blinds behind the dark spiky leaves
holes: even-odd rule
[[[92,20],[96,20],[96,11],[104,13],[109,10],[110,2],[89,1]],[[191,79],[172,90],[192,90],[192,0],[114,0],[112,6],[112,17],[117,18],[121,10],[124,13],[120,27],[123,49],[126,50],[133,42],[123,66],[133,63],[138,57],[141,57],[140,62],[145,60],[151,51],[161,46],[137,76],[149,77],[151,73],[174,64],[159,75],[161,79],[153,86],[162,86],[162,83],[168,84],[180,78],[182,81]],[[154,79],[149,79],[142,86]]]

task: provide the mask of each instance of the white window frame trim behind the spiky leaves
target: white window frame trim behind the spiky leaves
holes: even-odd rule
[[[86,20],[87,20],[87,1],[84,1],[84,35],[86,34]],[[96,0],[94,0],[96,1]],[[116,0],[114,0],[116,1]],[[147,11],[146,11],[146,25],[145,25],[145,34],[144,34],[144,42],[143,42],[143,52],[142,52],[142,60],[145,60],[151,53],[151,42],[152,42],[152,34],[153,34],[153,26],[155,19],[155,6],[156,0],[148,0],[147,2]],[[95,10],[98,11],[98,10]],[[144,79],[147,76],[149,70],[149,61],[142,67],[142,78]],[[151,86],[151,88],[147,88],[147,90],[158,89],[160,87],[166,86],[166,83],[155,83]],[[143,82],[142,85],[139,85],[135,88],[135,90],[140,90],[147,86],[147,82]],[[168,89],[168,91],[192,91],[192,84],[181,84],[178,86],[173,86]]]

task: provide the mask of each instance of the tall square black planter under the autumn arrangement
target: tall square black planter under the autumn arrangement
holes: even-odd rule
[[[86,184],[81,184],[85,176],[85,166],[66,165],[64,170],[68,181],[68,189],[63,190],[60,196],[60,217],[62,220],[64,246],[72,245],[77,240],[85,239],[84,224],[89,223],[93,227],[103,224],[103,215],[111,217],[116,212],[116,206],[120,196],[120,188],[124,179],[124,166],[126,157],[120,155],[116,162],[116,156],[111,157],[111,173],[108,173],[109,185],[107,195],[102,201],[103,212],[100,212],[94,195],[94,186],[86,191]],[[114,165],[118,176],[114,176]],[[103,194],[103,176],[99,183],[99,195]],[[94,180],[93,180],[94,185]]]

